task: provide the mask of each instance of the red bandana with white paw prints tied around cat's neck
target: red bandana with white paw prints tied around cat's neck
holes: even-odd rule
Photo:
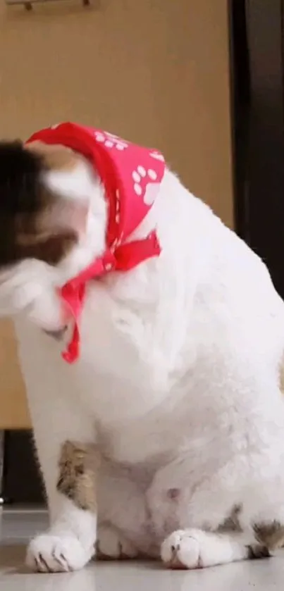
[[[36,140],[61,144],[88,158],[101,178],[109,205],[106,251],[61,289],[61,297],[75,319],[73,337],[63,352],[63,359],[73,363],[80,354],[78,320],[87,281],[111,270],[129,270],[161,252],[155,231],[147,238],[125,241],[151,209],[165,173],[165,162],[157,150],[136,146],[108,132],[74,123],[61,123],[41,130],[27,143]]]

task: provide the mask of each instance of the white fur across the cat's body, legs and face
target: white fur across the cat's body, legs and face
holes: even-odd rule
[[[176,540],[187,568],[245,558],[240,540],[200,530],[218,528],[235,505],[245,528],[284,523],[283,301],[264,263],[167,171],[134,235],[156,227],[161,256],[89,283],[80,360],[68,366],[62,344],[41,328],[61,328],[55,287],[101,252],[106,225],[103,189],[87,165],[75,174],[74,183],[55,173],[47,183],[62,194],[73,187],[73,202],[82,192],[89,199],[80,244],[56,269],[24,261],[0,288],[0,301],[6,290],[21,311],[20,362],[51,510],[51,530],[32,542],[29,564],[47,568],[42,554],[51,571],[79,568],[92,554],[94,516],[56,493],[66,439],[96,442],[104,457],[104,554],[117,556],[123,540],[131,556],[158,556],[170,536],[166,562]]]

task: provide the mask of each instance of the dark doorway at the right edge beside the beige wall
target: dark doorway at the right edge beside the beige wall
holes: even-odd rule
[[[283,0],[230,0],[235,220],[284,297]]]

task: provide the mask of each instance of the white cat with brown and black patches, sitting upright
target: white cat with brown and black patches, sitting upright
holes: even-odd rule
[[[109,218],[101,176],[72,146],[0,143],[0,313],[16,326],[50,514],[27,564],[269,556],[284,541],[284,303],[165,166],[126,241],[156,231],[159,253],[87,282],[79,359],[66,363],[60,290],[104,253]],[[147,174],[133,172],[137,199]]]

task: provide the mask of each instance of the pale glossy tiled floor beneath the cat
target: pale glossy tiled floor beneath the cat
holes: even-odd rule
[[[8,511],[1,523],[0,591],[282,591],[284,554],[190,573],[155,563],[97,563],[84,571],[35,575],[24,566],[27,539],[44,529],[42,511]]]

